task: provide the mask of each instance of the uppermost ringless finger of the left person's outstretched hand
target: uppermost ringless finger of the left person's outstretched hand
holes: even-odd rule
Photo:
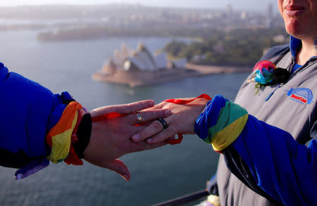
[[[92,111],[90,111],[90,115],[92,117],[97,117],[100,115],[104,115],[110,112],[118,112],[120,114],[130,114],[133,112],[137,112],[139,110],[144,110],[147,108],[153,107],[155,104],[152,100],[146,100],[146,101],[138,101],[135,103],[128,103],[123,105],[108,105],[101,108],[96,108]]]

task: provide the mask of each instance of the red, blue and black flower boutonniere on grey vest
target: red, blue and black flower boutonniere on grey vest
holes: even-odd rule
[[[289,71],[280,67],[277,68],[268,60],[256,63],[252,73],[251,79],[248,79],[247,82],[257,82],[255,84],[256,94],[259,89],[263,89],[267,85],[285,83],[290,77]]]

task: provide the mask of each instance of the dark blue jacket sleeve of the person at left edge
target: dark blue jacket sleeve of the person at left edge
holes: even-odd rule
[[[35,157],[50,153],[45,136],[61,118],[67,103],[66,92],[54,95],[0,63],[0,165],[20,168]]]

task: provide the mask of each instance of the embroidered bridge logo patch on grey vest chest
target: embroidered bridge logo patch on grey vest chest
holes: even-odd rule
[[[291,88],[290,91],[287,91],[287,96],[290,96],[292,101],[297,101],[303,105],[309,105],[311,102],[313,102],[313,93],[308,88]]]

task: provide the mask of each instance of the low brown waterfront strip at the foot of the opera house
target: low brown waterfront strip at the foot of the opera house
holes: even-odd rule
[[[97,82],[110,82],[115,84],[125,84],[130,87],[147,86],[151,84],[162,84],[189,77],[202,77],[206,75],[216,75],[222,73],[251,72],[251,67],[227,67],[211,65],[186,64],[186,68],[173,68],[150,71],[126,72],[116,70],[112,74],[106,74],[100,70],[92,75],[92,79]]]

